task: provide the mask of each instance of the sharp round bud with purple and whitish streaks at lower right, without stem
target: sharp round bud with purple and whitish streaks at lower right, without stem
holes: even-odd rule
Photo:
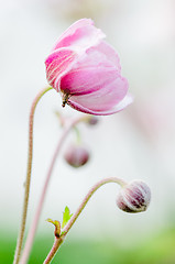
[[[120,189],[117,206],[125,212],[141,212],[147,209],[150,200],[150,187],[141,180],[133,180]]]

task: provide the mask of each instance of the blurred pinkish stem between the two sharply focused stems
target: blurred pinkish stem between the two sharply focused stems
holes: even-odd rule
[[[37,228],[37,224],[39,224],[39,220],[40,220],[40,216],[41,216],[41,212],[42,212],[42,208],[43,208],[43,204],[44,204],[44,199],[45,199],[45,195],[46,195],[46,190],[47,190],[47,187],[48,187],[48,183],[50,183],[50,179],[51,179],[51,176],[52,176],[52,172],[54,169],[54,165],[55,165],[55,162],[57,160],[57,156],[58,156],[58,153],[62,148],[62,145],[67,136],[67,134],[69,133],[69,131],[79,122],[81,121],[86,121],[90,118],[90,116],[83,116],[74,121],[72,121],[64,130],[61,139],[58,140],[58,144],[56,146],[56,150],[54,152],[54,155],[53,155],[53,158],[52,158],[52,162],[51,162],[51,165],[50,165],[50,168],[48,168],[48,172],[47,172],[47,175],[46,175],[46,179],[45,179],[45,183],[44,183],[44,187],[43,187],[43,190],[42,190],[42,194],[41,194],[41,198],[40,198],[40,201],[39,201],[39,206],[36,208],[36,212],[35,212],[35,217],[33,219],[33,222],[31,224],[31,228],[30,228],[30,231],[29,231],[29,234],[28,234],[28,238],[26,238],[26,243],[24,245],[24,251],[23,251],[23,254],[22,254],[22,257],[20,260],[20,264],[24,264],[26,263],[28,261],[28,257],[29,257],[29,254],[30,254],[30,251],[31,251],[31,248],[32,248],[32,243],[33,243],[33,240],[34,240],[34,235],[35,235],[35,231],[36,231],[36,228]]]

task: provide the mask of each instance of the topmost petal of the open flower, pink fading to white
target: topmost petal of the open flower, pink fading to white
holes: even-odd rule
[[[94,26],[94,22],[90,19],[81,19],[62,34],[53,50],[74,46],[74,50],[80,52],[80,50],[97,45],[103,37],[105,34],[101,30]]]

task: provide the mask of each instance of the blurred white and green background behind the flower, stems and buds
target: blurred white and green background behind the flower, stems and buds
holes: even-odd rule
[[[175,1],[174,0],[1,0],[0,1],[0,263],[12,263],[21,221],[28,153],[29,111],[47,85],[44,59],[64,30],[91,18],[119,53],[134,102],[99,118],[96,127],[78,125],[90,162],[69,167],[63,153],[50,184],[30,263],[42,263],[54,239],[47,218],[75,211],[88,189],[110,176],[140,178],[152,189],[144,213],[127,215],[116,206],[119,188],[102,187],[89,201],[53,263],[175,263]],[[34,127],[34,158],[28,227],[46,170],[62,134],[50,91],[40,102]]]

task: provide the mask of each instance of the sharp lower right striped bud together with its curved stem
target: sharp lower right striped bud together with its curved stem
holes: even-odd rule
[[[151,198],[151,191],[146,184],[140,180],[133,180],[129,184],[127,184],[124,180],[116,177],[106,178],[100,182],[98,182],[96,185],[94,185],[88,194],[85,196],[84,200],[79,205],[78,209],[75,211],[75,213],[69,218],[68,222],[62,230],[61,237],[55,237],[55,242],[53,244],[52,250],[50,251],[46,260],[44,261],[44,264],[48,264],[54,255],[56,254],[56,251],[58,250],[59,245],[66,238],[68,231],[75,223],[75,221],[78,219],[79,215],[86,207],[87,202],[91,198],[91,196],[98,190],[101,186],[109,184],[109,183],[116,183],[121,186],[121,191],[119,194],[117,205],[121,210],[124,210],[127,212],[140,212],[145,211]],[[67,209],[66,209],[67,210]],[[68,209],[69,215],[69,209]],[[67,217],[66,217],[67,218]]]

